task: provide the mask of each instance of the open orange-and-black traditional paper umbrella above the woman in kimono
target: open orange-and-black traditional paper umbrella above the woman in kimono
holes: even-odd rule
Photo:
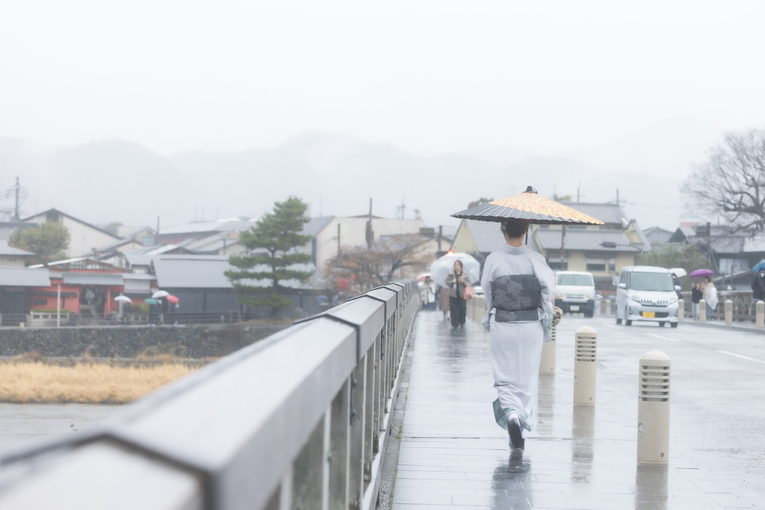
[[[531,186],[527,187],[523,193],[482,203],[451,216],[493,222],[502,222],[508,218],[521,218],[528,220],[529,223],[604,225],[600,219],[595,219],[580,213],[578,210],[571,209],[571,207],[564,206],[562,203],[542,197]]]

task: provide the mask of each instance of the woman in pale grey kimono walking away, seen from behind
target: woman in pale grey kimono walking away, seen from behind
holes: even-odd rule
[[[494,417],[508,431],[513,448],[524,446],[526,431],[534,426],[542,343],[552,339],[552,325],[562,317],[557,307],[553,317],[552,269],[542,255],[522,244],[529,221],[503,221],[507,244],[487,257],[481,278],[487,302],[483,326],[490,331],[490,358],[498,394]]]

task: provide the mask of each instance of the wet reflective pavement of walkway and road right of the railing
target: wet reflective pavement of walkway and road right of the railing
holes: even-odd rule
[[[574,405],[574,332],[598,332],[597,404]],[[637,466],[637,366],[672,358],[669,466]],[[765,508],[765,337],[566,316],[555,375],[511,452],[493,419],[489,335],[420,313],[406,395],[396,510]]]

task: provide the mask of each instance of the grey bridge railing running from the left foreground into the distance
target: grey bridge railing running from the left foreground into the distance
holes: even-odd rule
[[[6,456],[0,507],[371,510],[420,304],[392,281]]]

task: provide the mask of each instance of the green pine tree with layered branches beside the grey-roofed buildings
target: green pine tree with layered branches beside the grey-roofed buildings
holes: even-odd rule
[[[295,264],[311,261],[308,253],[299,253],[297,248],[311,241],[311,236],[301,234],[308,218],[303,214],[308,206],[297,197],[274,204],[272,213],[266,213],[256,226],[240,234],[246,247],[244,255],[232,255],[229,264],[238,271],[226,271],[226,277],[233,283],[243,304],[269,306],[275,312],[292,305],[292,300],[282,291],[286,287],[280,281],[306,281],[312,271],[291,269]],[[268,280],[270,285],[260,287],[252,280]]]

